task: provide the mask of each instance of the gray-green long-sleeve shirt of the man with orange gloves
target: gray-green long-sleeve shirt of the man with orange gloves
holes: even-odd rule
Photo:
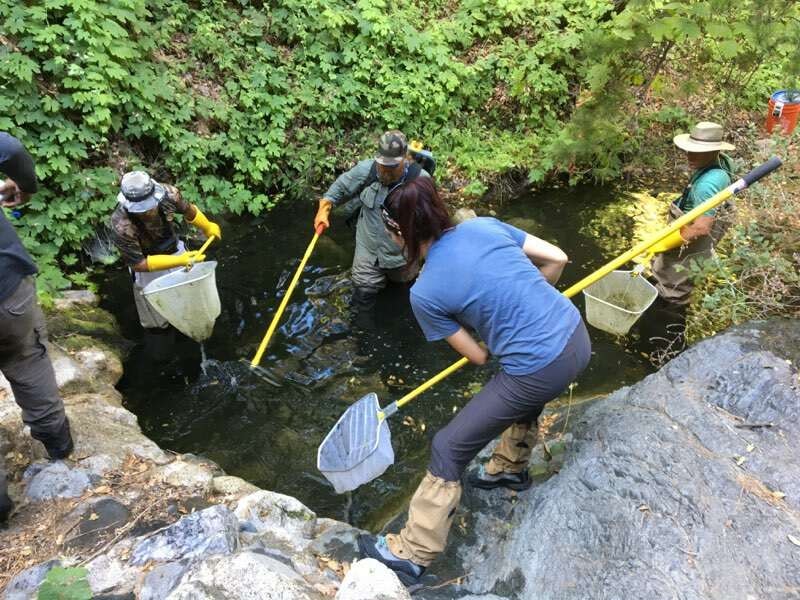
[[[342,173],[325,192],[325,198],[333,202],[334,206],[353,199],[358,189],[369,178],[373,162],[373,159],[362,160],[346,173]],[[422,171],[420,176],[430,177],[426,171]],[[396,269],[406,264],[405,257],[389,237],[381,218],[381,208],[390,189],[391,186],[375,181],[359,194],[361,214],[358,216],[356,227],[356,246],[358,246],[356,254],[368,255],[370,260],[377,261],[382,269]]]

